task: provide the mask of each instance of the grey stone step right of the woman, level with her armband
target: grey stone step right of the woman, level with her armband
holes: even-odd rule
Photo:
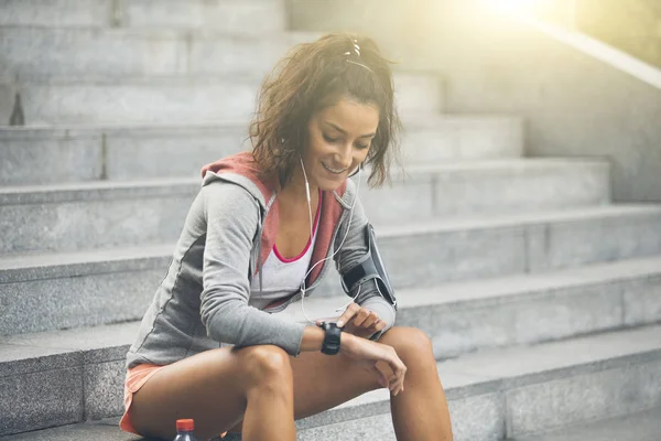
[[[661,247],[660,222],[653,206],[597,207],[410,224],[407,236],[382,227],[380,240],[388,268],[408,269],[393,283],[420,287],[651,256]]]

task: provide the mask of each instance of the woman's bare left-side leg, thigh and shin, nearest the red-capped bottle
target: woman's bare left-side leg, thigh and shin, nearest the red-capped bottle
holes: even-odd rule
[[[290,356],[271,345],[206,351],[159,370],[133,395],[130,418],[148,437],[174,439],[177,418],[195,419],[201,439],[242,418],[245,440],[294,441]]]

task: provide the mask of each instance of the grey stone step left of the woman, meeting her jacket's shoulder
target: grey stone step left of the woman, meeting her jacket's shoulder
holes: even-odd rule
[[[127,190],[123,195],[120,191],[105,198],[104,192],[91,191],[84,193],[87,201],[42,201],[33,205],[9,205],[4,200],[0,208],[0,232],[7,239],[0,250],[4,254],[40,249],[66,252],[176,240],[195,197],[195,184],[167,185],[160,189],[161,196],[148,197],[140,196],[140,191],[131,195],[133,191]],[[150,193],[147,187],[142,190]],[[51,195],[57,197],[56,192]],[[71,193],[61,195],[67,197]]]

